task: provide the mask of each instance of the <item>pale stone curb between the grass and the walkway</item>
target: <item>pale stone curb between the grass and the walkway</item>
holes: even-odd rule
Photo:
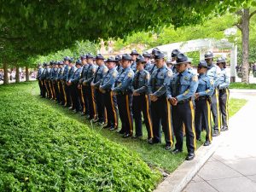
[[[222,132],[224,133],[224,132]],[[160,183],[154,192],[180,192],[186,185],[195,177],[196,173],[201,169],[207,160],[216,151],[218,146],[224,141],[226,134],[221,134],[219,137],[214,137],[212,144],[208,147],[201,146],[195,151],[195,159],[184,161],[177,170]]]

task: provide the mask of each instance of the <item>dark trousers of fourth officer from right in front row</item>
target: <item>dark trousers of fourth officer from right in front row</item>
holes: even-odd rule
[[[118,94],[117,102],[119,108],[119,117],[122,122],[122,128],[120,132],[125,134],[131,134],[133,132],[133,119],[131,112],[132,94]]]

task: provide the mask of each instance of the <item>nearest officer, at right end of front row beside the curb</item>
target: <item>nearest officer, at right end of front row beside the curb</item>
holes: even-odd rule
[[[183,125],[186,131],[188,155],[186,160],[195,157],[195,106],[193,97],[198,86],[197,75],[190,73],[187,68],[188,57],[177,55],[177,73],[167,88],[167,98],[172,104],[172,125],[176,137],[174,154],[183,151]]]

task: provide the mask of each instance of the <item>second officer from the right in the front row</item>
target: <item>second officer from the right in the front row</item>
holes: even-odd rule
[[[172,122],[170,104],[166,99],[166,84],[172,78],[172,70],[166,67],[165,55],[159,50],[154,53],[157,67],[151,75],[148,93],[151,100],[151,115],[153,122],[153,143],[161,143],[160,123],[166,139],[165,149],[172,147]]]

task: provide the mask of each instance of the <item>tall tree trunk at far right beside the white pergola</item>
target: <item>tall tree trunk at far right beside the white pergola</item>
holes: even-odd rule
[[[242,65],[241,65],[241,82],[249,83],[249,21],[250,10],[243,9],[241,15],[241,47],[242,47]]]

